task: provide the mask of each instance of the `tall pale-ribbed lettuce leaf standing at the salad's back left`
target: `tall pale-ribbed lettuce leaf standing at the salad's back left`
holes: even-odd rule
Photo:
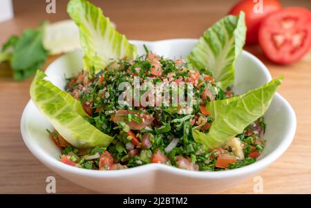
[[[113,28],[100,8],[85,0],[70,0],[67,12],[80,31],[84,68],[96,73],[113,59],[135,59],[136,46],[129,44],[126,37]]]

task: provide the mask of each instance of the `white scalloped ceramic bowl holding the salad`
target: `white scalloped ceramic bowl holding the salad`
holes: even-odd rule
[[[163,41],[131,41],[143,54],[143,44],[158,55],[169,58],[187,57],[196,39],[169,39]],[[48,79],[64,88],[66,77],[77,75],[82,70],[82,52],[76,51],[50,64]],[[243,51],[236,62],[236,93],[245,93],[270,81],[267,68],[256,57]],[[164,164],[147,164],[119,171],[95,171],[70,167],[59,162],[60,151],[48,137],[46,129],[53,126],[37,111],[30,101],[21,117],[21,134],[28,149],[38,160],[60,176],[102,193],[215,193],[238,185],[247,178],[256,176],[279,158],[294,138],[296,116],[281,95],[274,95],[270,108],[265,113],[267,140],[258,161],[246,167],[229,171],[196,172],[169,167]]]

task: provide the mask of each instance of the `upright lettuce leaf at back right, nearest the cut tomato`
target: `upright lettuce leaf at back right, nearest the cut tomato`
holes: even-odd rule
[[[188,60],[194,68],[214,73],[222,88],[234,83],[234,64],[245,44],[245,15],[228,15],[207,29],[191,51]]]

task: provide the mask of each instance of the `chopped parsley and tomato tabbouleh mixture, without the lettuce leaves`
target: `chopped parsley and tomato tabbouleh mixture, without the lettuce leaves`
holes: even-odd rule
[[[185,115],[178,107],[120,106],[117,99],[122,92],[117,86],[133,82],[136,75],[142,77],[141,82],[193,84],[194,108]],[[213,122],[205,108],[207,102],[232,97],[233,93],[230,88],[223,91],[216,86],[211,72],[189,70],[182,59],[164,59],[149,53],[135,61],[113,62],[93,79],[83,72],[68,79],[67,91],[82,103],[90,115],[88,122],[115,135],[108,147],[80,151],[56,131],[51,133],[55,143],[63,148],[62,162],[76,167],[126,169],[155,162],[192,171],[218,171],[255,162],[264,147],[263,117],[217,149],[207,151],[203,144],[194,141],[192,129],[208,132]]]

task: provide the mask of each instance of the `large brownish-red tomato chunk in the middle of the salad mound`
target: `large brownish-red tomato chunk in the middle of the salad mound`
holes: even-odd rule
[[[135,122],[135,121],[127,121],[124,116],[133,114],[142,120],[141,123]],[[147,113],[137,113],[133,111],[126,111],[126,110],[119,110],[115,112],[114,115],[111,115],[111,120],[115,122],[116,124],[119,122],[125,122],[127,125],[129,125],[130,129],[135,129],[135,130],[142,130],[144,127],[149,126],[154,118],[152,115],[147,115]]]

